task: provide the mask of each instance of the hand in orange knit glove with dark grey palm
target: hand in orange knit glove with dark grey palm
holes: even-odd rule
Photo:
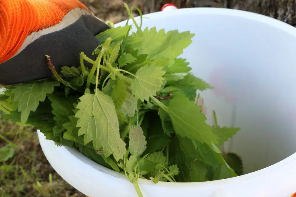
[[[0,0],[0,84],[51,77],[45,55],[58,72],[78,67],[108,28],[78,0]]]

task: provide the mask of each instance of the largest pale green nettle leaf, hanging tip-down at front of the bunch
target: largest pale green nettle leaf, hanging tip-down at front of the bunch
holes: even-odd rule
[[[84,144],[93,142],[95,150],[103,148],[104,157],[113,154],[116,161],[126,154],[126,144],[120,139],[118,117],[112,98],[98,91],[79,98],[76,118],[80,127],[78,136],[84,135]]]

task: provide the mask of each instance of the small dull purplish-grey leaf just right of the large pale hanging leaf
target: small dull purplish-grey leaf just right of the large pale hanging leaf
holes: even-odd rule
[[[146,140],[140,126],[133,126],[129,132],[129,149],[135,157],[139,157],[146,149]]]

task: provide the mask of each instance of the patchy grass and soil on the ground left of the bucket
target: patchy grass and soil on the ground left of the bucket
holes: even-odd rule
[[[33,127],[0,119],[0,197],[41,196],[85,197],[51,167]]]

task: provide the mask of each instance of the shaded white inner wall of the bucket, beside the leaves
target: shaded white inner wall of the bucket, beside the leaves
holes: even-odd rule
[[[196,34],[180,57],[195,76],[215,87],[200,92],[207,122],[214,123],[215,110],[220,126],[241,128],[225,150],[242,157],[244,174],[295,153],[295,36],[246,17],[194,12],[147,16],[143,28]]]

